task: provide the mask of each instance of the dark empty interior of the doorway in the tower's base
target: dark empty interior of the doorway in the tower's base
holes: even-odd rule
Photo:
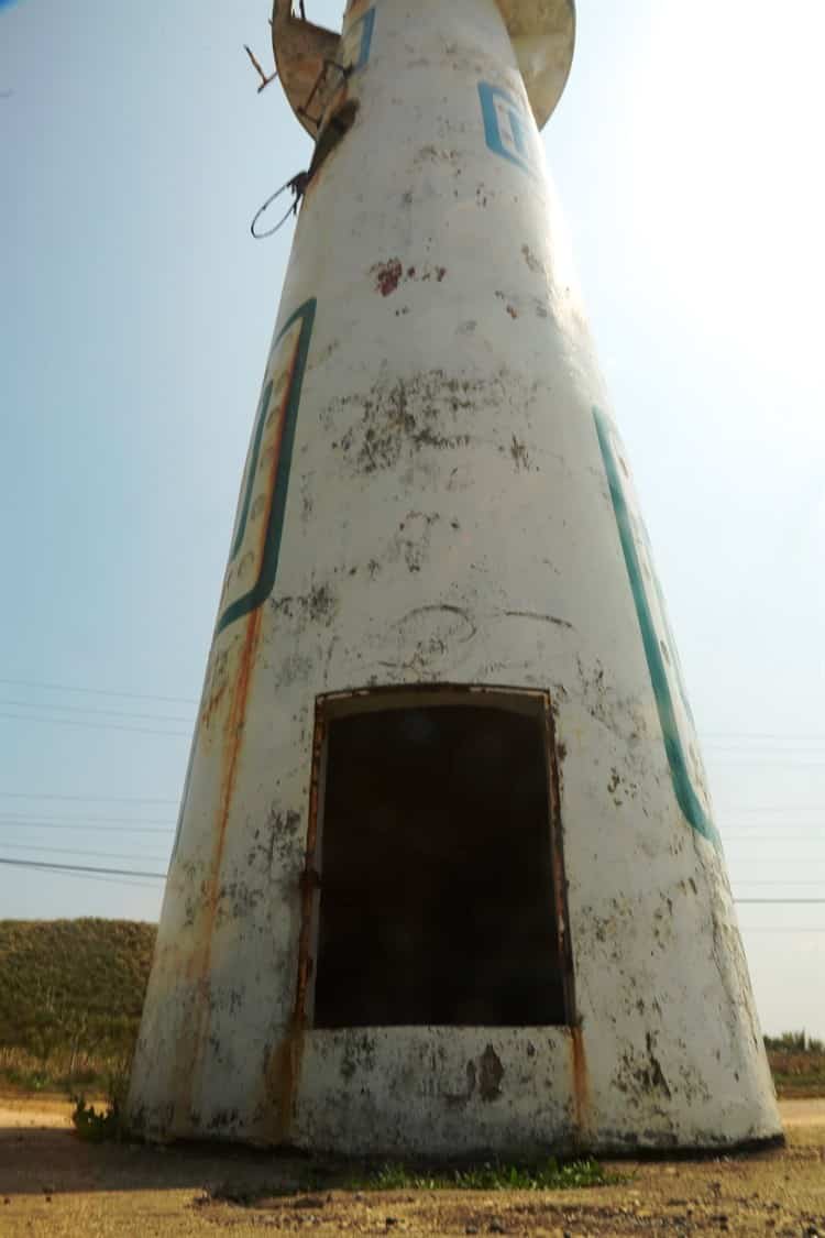
[[[541,719],[329,722],[317,1028],[564,1024]]]

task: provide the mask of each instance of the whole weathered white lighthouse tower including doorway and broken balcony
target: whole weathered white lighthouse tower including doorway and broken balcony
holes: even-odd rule
[[[137,1055],[147,1138],[735,1146],[779,1119],[538,128],[571,0],[276,0],[315,139]]]

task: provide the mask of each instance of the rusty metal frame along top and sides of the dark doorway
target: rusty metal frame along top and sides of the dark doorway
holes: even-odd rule
[[[293,1029],[296,1032],[304,1031],[313,1024],[313,982],[315,977],[320,911],[318,895],[322,889],[323,867],[323,831],[319,827],[324,817],[329,723],[336,718],[381,709],[428,708],[455,704],[485,704],[489,708],[502,709],[508,713],[527,714],[533,717],[542,728],[548,791],[550,868],[555,906],[554,927],[564,990],[564,1026],[573,1028],[578,1023],[566,879],[564,875],[559,768],[550,693],[536,688],[513,688],[503,685],[402,683],[353,688],[349,692],[327,692],[315,697],[307,848],[304,869],[301,875],[301,933],[298,938],[298,972],[293,1010]]]

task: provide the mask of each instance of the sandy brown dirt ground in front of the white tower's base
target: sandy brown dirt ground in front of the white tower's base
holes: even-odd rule
[[[245,1150],[92,1145],[66,1101],[0,1097],[0,1234],[245,1238],[333,1234],[771,1234],[825,1238],[825,1099],[780,1103],[788,1146],[705,1160],[621,1161],[578,1191],[323,1191],[220,1200],[293,1181],[304,1162]]]

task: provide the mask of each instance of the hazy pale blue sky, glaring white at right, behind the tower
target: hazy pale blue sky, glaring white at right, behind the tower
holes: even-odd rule
[[[825,1035],[825,5],[578,10],[548,162],[735,893],[789,900],[738,909],[763,1025]],[[168,860],[291,244],[249,220],[310,155],[267,16],[0,0],[4,859]],[[2,917],[161,891],[0,865]]]

